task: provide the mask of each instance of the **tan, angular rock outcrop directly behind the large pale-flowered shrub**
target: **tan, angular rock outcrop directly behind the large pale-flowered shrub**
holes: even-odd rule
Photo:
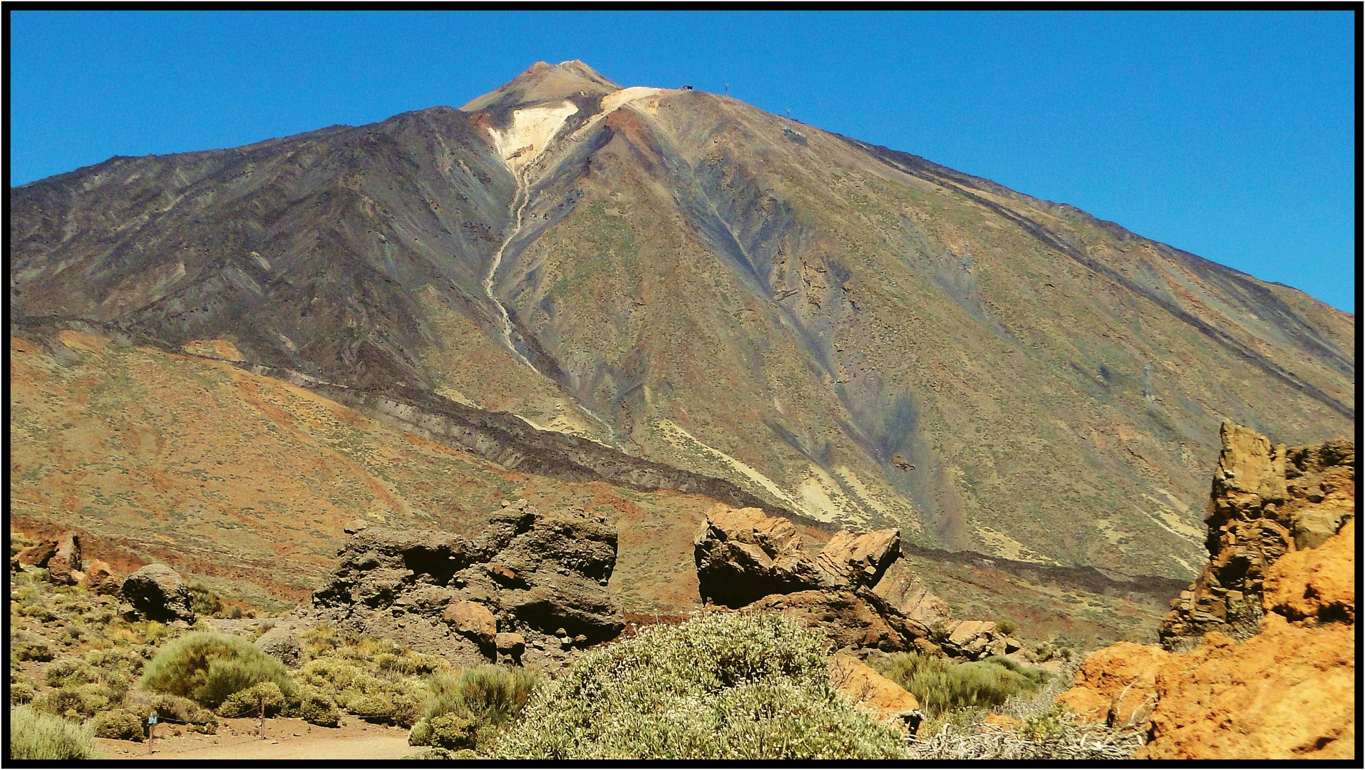
[[[931,644],[928,625],[887,598],[906,598],[904,587],[878,593],[900,565],[900,546],[897,530],[841,531],[811,557],[786,519],[718,508],[695,541],[698,583],[703,602],[793,616],[822,628],[839,648],[909,650]],[[900,567],[898,579],[913,582]],[[930,603],[916,599],[916,606]]]

